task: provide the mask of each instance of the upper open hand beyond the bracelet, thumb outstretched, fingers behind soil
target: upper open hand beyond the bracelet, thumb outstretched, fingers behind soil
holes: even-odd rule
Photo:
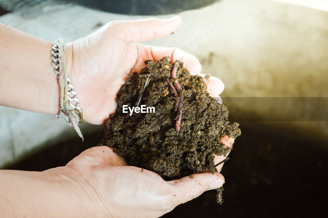
[[[65,45],[66,65],[83,119],[104,124],[114,112],[114,99],[127,75],[146,67],[144,61],[163,56],[181,60],[192,75],[200,73],[201,65],[194,55],[177,48],[142,45],[139,42],[158,39],[179,28],[181,18],[167,20],[112,21],[91,35]],[[221,80],[206,80],[211,95],[218,95],[224,86]]]

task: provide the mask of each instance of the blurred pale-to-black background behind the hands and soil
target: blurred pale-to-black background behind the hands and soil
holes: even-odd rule
[[[220,78],[242,135],[222,169],[224,205],[208,191],[165,217],[326,217],[327,0],[0,0],[1,23],[49,41],[69,42],[112,20],[175,14],[183,24],[174,35],[145,44],[190,52],[203,73]],[[82,124],[82,143],[54,115],[6,107],[0,114],[6,169],[64,166],[96,146],[103,129]]]

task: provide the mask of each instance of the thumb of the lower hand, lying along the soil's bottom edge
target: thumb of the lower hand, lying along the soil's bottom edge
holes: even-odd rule
[[[224,177],[218,172],[196,173],[168,183],[173,186],[170,200],[174,205],[179,205],[198,197],[204,191],[220,188]]]

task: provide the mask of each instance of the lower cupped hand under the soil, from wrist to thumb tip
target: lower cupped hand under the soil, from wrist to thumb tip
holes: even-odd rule
[[[45,172],[65,178],[63,186],[71,187],[62,198],[77,195],[84,202],[85,215],[101,217],[158,217],[224,183],[218,172],[166,182],[153,171],[126,166],[107,146],[87,149],[65,167]]]

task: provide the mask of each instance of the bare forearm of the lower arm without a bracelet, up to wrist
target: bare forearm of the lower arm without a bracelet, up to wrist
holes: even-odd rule
[[[0,187],[1,217],[87,215],[87,203],[83,201],[87,201],[88,197],[81,198],[83,190],[77,194],[80,186],[76,183],[76,187],[72,187],[70,175],[0,170]]]

